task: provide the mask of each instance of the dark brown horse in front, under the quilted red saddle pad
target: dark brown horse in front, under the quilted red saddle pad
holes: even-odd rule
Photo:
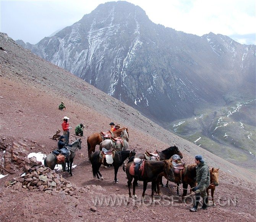
[[[142,196],[144,198],[145,196],[145,192],[147,189],[147,183],[148,182],[152,182],[151,185],[151,196],[152,196],[152,200],[154,200],[154,188],[156,187],[156,180],[158,175],[161,172],[165,172],[165,174],[167,175],[167,178],[170,180],[174,179],[173,176],[173,165],[172,165],[172,158],[169,160],[163,160],[163,161],[150,161],[150,160],[145,160],[144,163],[144,173],[143,175],[139,178],[138,176],[133,176],[130,174],[130,167],[133,165],[133,162],[130,162],[127,164],[126,166],[126,175],[127,175],[127,184],[128,184],[128,188],[129,188],[129,196],[131,196],[131,182],[133,180],[133,196],[134,198],[136,198],[136,194],[135,194],[135,187],[136,184],[138,182],[138,180],[143,181],[143,193]]]

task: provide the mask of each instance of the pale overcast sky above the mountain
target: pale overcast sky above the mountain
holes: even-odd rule
[[[0,32],[35,44],[79,21],[105,0],[0,0]],[[255,0],[127,0],[152,22],[186,33],[227,35],[256,44]]]

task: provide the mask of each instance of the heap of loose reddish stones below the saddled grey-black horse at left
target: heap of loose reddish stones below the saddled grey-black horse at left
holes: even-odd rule
[[[76,186],[65,180],[54,170],[42,165],[35,157],[24,160],[25,172],[13,180],[6,181],[6,187],[13,187],[14,190],[22,191],[22,189],[39,190],[45,193],[73,195]]]

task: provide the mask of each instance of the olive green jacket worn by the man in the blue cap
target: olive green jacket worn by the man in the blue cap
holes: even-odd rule
[[[206,189],[210,185],[210,171],[207,163],[199,163],[196,167],[196,181],[198,189]]]

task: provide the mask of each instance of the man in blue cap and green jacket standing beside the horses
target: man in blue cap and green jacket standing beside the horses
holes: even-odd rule
[[[196,212],[198,208],[198,204],[200,201],[200,196],[203,198],[203,206],[201,209],[206,209],[208,203],[208,197],[206,193],[206,188],[210,185],[210,171],[209,166],[207,166],[206,161],[203,159],[201,155],[196,155],[194,162],[197,164],[196,166],[196,181],[198,185],[192,188],[192,191],[195,193],[196,201],[194,203],[193,208],[190,208],[191,212]]]

